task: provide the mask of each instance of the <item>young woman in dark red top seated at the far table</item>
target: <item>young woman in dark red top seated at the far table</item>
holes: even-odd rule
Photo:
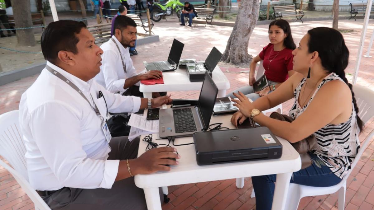
[[[279,87],[294,71],[292,70],[292,50],[296,48],[291,35],[291,27],[288,22],[279,19],[269,24],[270,43],[256,57],[252,59],[249,67],[249,86],[241,87],[234,92],[242,92],[248,98],[255,101],[267,93]],[[254,92],[253,83],[255,83],[255,69],[259,61],[263,61],[264,74],[266,75],[269,86],[260,92]],[[235,98],[230,93],[227,96]]]

